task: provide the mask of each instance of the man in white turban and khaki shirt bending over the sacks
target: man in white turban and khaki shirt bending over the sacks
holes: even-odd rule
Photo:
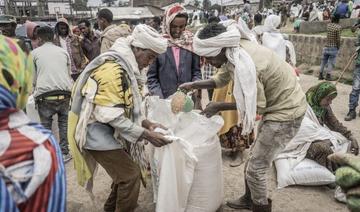
[[[195,52],[221,68],[210,80],[185,83],[182,89],[222,87],[232,78],[236,103],[210,103],[203,111],[238,110],[243,134],[254,127],[255,115],[263,116],[259,134],[245,165],[246,193],[228,206],[253,211],[271,211],[266,173],[275,158],[298,131],[306,111],[305,95],[292,67],[273,51],[251,41],[238,24],[209,24],[194,38]]]

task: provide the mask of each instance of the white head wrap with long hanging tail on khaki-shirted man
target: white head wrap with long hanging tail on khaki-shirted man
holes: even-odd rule
[[[208,39],[200,39],[199,32],[194,37],[195,53],[205,57],[217,56],[223,48],[226,57],[235,66],[234,98],[242,124],[242,134],[248,134],[254,128],[256,117],[256,68],[250,55],[240,47],[240,39],[250,39],[243,28],[235,21],[221,22],[226,32]],[[241,120],[240,120],[241,119]]]

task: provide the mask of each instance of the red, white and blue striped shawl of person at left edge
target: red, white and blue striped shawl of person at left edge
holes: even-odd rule
[[[3,112],[6,114],[7,111]],[[62,212],[66,210],[66,181],[65,181],[65,168],[62,160],[61,150],[51,131],[43,128],[39,124],[27,123],[26,128],[28,131],[36,131],[40,135],[45,135],[45,141],[41,142],[35,140],[39,138],[38,135],[32,136],[31,134],[24,134],[24,126],[18,128],[11,128],[11,120],[19,120],[19,118],[26,118],[22,112],[7,113],[8,117],[0,117],[0,134],[10,135],[10,144],[6,150],[0,153],[0,163],[4,166],[5,170],[0,170],[1,183],[0,183],[0,211],[24,211],[24,212]],[[15,117],[16,116],[16,117]],[[6,138],[5,138],[6,139]],[[34,139],[34,140],[33,140]],[[17,182],[11,179],[6,169],[7,167],[15,164],[20,164],[26,161],[36,160],[33,157],[33,150],[40,145],[50,153],[51,166],[50,171],[45,176],[45,180],[38,186],[35,192],[27,197],[25,189],[28,184]],[[0,149],[4,150],[4,149]],[[33,164],[34,166],[34,164]],[[27,182],[30,182],[31,178]],[[10,193],[7,187],[12,186],[14,191]],[[16,194],[16,195],[14,195]],[[16,197],[16,198],[15,198]],[[23,197],[21,199],[17,197]],[[24,200],[23,200],[24,199]]]

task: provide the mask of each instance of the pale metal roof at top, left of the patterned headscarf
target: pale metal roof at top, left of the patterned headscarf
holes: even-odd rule
[[[106,7],[114,16],[114,20],[152,18],[154,15],[147,7]]]

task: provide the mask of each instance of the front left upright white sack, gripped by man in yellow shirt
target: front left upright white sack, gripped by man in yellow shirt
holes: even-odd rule
[[[156,180],[156,211],[183,212],[193,183],[197,158],[187,141],[170,136],[168,139],[173,143],[155,148],[151,163]]]

